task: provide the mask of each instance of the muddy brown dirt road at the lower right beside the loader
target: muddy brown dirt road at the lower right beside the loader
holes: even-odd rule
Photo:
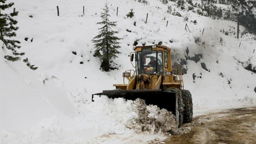
[[[226,143],[256,144],[256,107],[231,109],[198,116],[189,124],[186,134],[170,135],[166,144]]]

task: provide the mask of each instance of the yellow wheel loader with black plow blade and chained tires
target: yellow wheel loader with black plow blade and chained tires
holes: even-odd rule
[[[123,73],[128,84],[114,84],[115,90],[103,90],[92,95],[106,95],[109,98],[145,100],[147,105],[153,104],[160,109],[167,109],[176,116],[176,123],[192,121],[193,103],[188,90],[184,90],[181,64],[172,68],[171,48],[163,45],[136,46],[130,54],[134,70]],[[135,59],[135,61],[134,61]],[[133,64],[135,63],[135,66]]]

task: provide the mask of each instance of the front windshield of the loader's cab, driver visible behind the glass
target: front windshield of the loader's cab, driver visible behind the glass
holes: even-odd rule
[[[162,74],[162,51],[153,51],[152,48],[143,48],[136,55],[136,74]]]

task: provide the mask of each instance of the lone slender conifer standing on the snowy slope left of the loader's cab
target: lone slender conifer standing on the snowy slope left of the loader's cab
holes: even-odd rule
[[[96,51],[94,52],[94,56],[99,58],[101,61],[101,69],[103,71],[109,71],[116,69],[115,67],[110,65],[120,52],[117,51],[120,46],[118,45],[120,38],[114,36],[117,31],[111,30],[112,27],[116,26],[116,21],[109,21],[109,7],[108,3],[105,3],[105,9],[102,9],[100,17],[103,21],[97,23],[103,25],[103,27],[99,28],[99,34],[93,38],[94,46],[96,47]]]

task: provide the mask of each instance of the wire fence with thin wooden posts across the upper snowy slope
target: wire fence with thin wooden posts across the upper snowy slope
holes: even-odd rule
[[[86,8],[86,9],[85,9]],[[94,11],[88,11],[87,8],[93,8]],[[63,16],[65,17],[74,17],[74,16],[77,16],[77,14],[80,14],[79,16],[93,16],[95,13],[100,13],[101,12],[101,9],[103,9],[104,7],[101,7],[101,6],[74,6],[74,7],[69,7],[69,8],[58,8],[57,6],[57,9],[48,9],[48,10],[23,10],[23,9],[15,9],[14,8],[14,11],[17,10],[17,11],[20,11],[22,13],[19,13],[19,14],[22,14],[22,15],[49,15],[49,14],[52,14],[52,15],[59,15],[59,14],[64,14]],[[115,7],[115,6],[110,6],[109,7],[110,9],[112,9],[113,11],[116,11],[116,16],[122,16],[122,17],[126,17],[126,14],[128,14],[130,11],[127,11],[125,9],[118,9],[118,7]],[[74,10],[76,9],[76,10]],[[79,10],[78,10],[79,9]],[[59,10],[67,10],[65,12],[63,11],[60,11]],[[71,11],[70,11],[71,10]],[[76,15],[67,15],[67,14],[76,14]],[[60,15],[61,16],[61,15]],[[204,32],[202,33],[201,32],[201,29],[194,29],[193,27],[190,27],[190,26],[193,26],[193,25],[190,25],[188,26],[186,21],[184,21],[183,24],[180,24],[180,23],[175,23],[173,21],[169,21],[168,19],[160,19],[160,17],[158,16],[159,19],[155,19],[155,16],[154,15],[149,15],[149,17],[147,17],[147,13],[145,13],[144,15],[142,14],[134,14],[134,16],[136,17],[138,21],[137,24],[140,24],[141,26],[142,25],[149,25],[149,26],[152,26],[152,27],[156,27],[156,26],[165,26],[167,28],[171,28],[171,29],[180,29],[180,30],[184,30],[193,35],[197,35],[197,36],[201,36],[203,37],[203,33],[204,34],[207,34],[207,29],[204,29]],[[153,18],[152,18],[153,16]],[[145,23],[145,24],[143,24]],[[190,23],[190,22],[188,22]],[[191,23],[190,23],[191,24]],[[190,28],[188,28],[190,27]],[[187,29],[186,29],[187,28]],[[160,29],[160,27],[159,27]],[[188,31],[189,29],[189,31]],[[215,44],[217,44],[217,42],[214,42]],[[214,45],[214,43],[212,45]],[[247,45],[242,43],[242,41],[237,41],[236,43],[232,43],[230,41],[226,41],[226,42],[219,42],[221,43],[222,45],[228,45],[228,47],[233,47],[233,46],[236,46],[236,47],[246,47]],[[250,45],[255,45],[255,43],[251,43]]]

